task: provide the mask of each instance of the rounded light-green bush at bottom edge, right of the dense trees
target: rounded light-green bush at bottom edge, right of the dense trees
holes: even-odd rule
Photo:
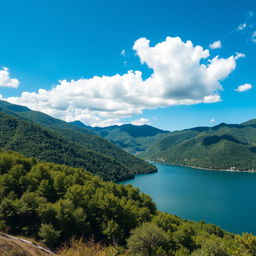
[[[163,229],[153,223],[143,223],[134,229],[127,244],[132,255],[164,255],[163,250],[165,255],[168,255],[168,236]]]

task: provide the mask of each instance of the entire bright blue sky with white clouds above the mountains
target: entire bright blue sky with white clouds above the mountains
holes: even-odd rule
[[[256,118],[254,0],[0,0],[0,98],[177,130]]]

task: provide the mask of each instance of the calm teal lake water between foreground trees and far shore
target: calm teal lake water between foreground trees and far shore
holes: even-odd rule
[[[256,234],[256,174],[156,164],[158,173],[122,182],[149,194],[161,211]]]

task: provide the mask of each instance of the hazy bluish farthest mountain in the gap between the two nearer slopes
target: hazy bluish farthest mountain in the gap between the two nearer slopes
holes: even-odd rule
[[[79,121],[72,124],[81,127]],[[145,151],[152,143],[169,133],[149,125],[124,124],[109,127],[85,127],[131,154]]]

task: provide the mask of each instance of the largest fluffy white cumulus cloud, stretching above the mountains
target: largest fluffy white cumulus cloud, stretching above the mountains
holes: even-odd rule
[[[50,90],[23,92],[6,100],[66,121],[78,119],[92,126],[118,124],[145,109],[220,101],[221,81],[241,57],[211,58],[209,50],[179,37],[167,37],[154,46],[140,38],[133,49],[141,63],[152,70],[146,79],[140,71],[130,70],[122,75],[63,80]]]

